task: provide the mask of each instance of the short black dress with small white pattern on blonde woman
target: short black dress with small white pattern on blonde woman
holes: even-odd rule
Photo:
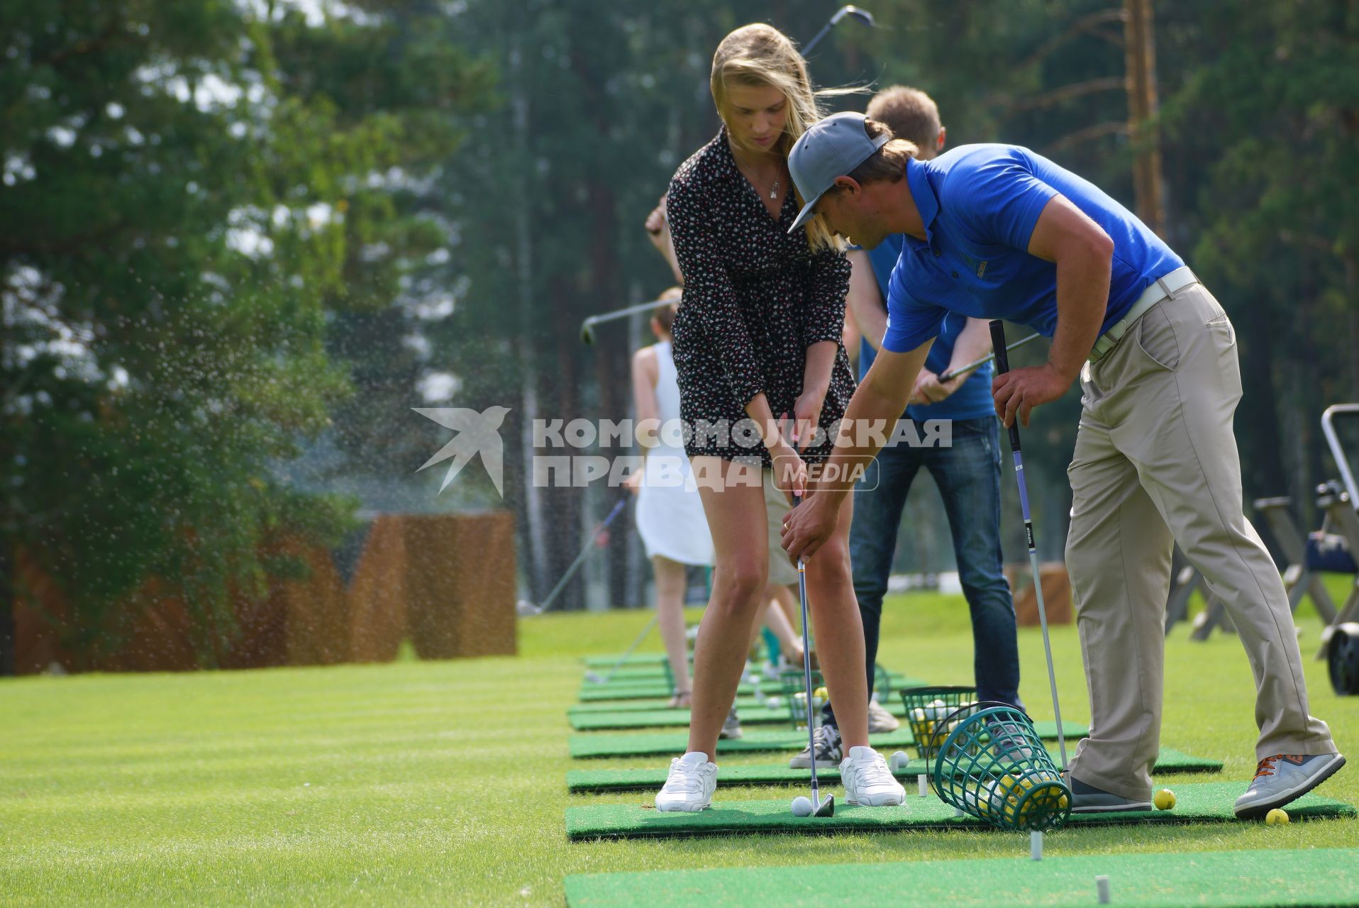
[[[685,453],[760,457],[771,466],[758,436],[739,430],[746,404],[764,391],[775,417],[791,415],[807,347],[834,341],[824,436],[803,451],[809,464],[824,461],[855,387],[841,340],[849,261],[837,251],[813,254],[803,230],[788,234],[798,216],[792,192],[779,220],[769,216],[737,170],[726,128],[675,171],[666,213],[685,284],[674,322]]]

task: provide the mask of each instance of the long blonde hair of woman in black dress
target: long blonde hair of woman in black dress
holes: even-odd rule
[[[775,147],[779,154],[788,158],[792,145],[807,132],[811,124],[822,117],[819,98],[830,95],[856,94],[862,88],[824,88],[814,91],[811,79],[807,76],[807,61],[798,53],[788,35],[773,26],[756,22],[741,26],[718,45],[712,54],[712,101],[718,106],[718,116],[727,122],[730,102],[727,99],[727,86],[773,87],[783,92],[788,101],[788,117],[784,121],[783,135]],[[750,148],[747,151],[762,151]],[[803,203],[802,196],[798,201]],[[843,250],[844,241],[832,234],[824,222],[813,219],[806,227],[807,245],[813,251],[822,249]]]

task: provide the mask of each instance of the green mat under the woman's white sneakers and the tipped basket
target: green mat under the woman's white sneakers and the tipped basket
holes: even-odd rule
[[[726,744],[726,742],[723,742]],[[739,741],[737,742],[739,744]],[[836,787],[839,788],[839,786]],[[1174,810],[1129,810],[1127,813],[1071,814],[1067,828],[1082,825],[1113,825],[1132,822],[1223,822],[1235,820],[1231,805],[1241,794],[1239,782],[1200,782],[1174,787],[1178,803]],[[843,790],[830,794],[844,797]],[[722,788],[715,806],[700,813],[660,813],[650,795],[643,803],[607,803],[587,807],[567,807],[567,836],[580,839],[636,839],[644,836],[715,836],[768,832],[825,833],[825,832],[896,832],[900,829],[995,829],[981,820],[954,814],[951,806],[932,792],[924,798],[906,792],[906,803],[900,807],[853,807],[836,802],[833,817],[794,817],[790,798],[773,801],[722,801]],[[1359,816],[1349,805],[1324,798],[1316,792],[1303,795],[1286,807],[1292,820],[1311,817]],[[1254,822],[1254,821],[1252,821]],[[1019,836],[1015,836],[1017,847]],[[1165,856],[1165,855],[1159,855]],[[862,873],[862,869],[860,869]],[[957,874],[951,877],[961,879]],[[1093,884],[1091,884],[1093,885]],[[969,884],[969,889],[978,889]],[[1226,884],[1224,884],[1226,888]],[[651,892],[648,890],[648,896]],[[991,892],[995,898],[996,892]],[[1008,900],[1006,900],[1008,903]],[[1094,898],[1091,898],[1091,903]],[[945,900],[940,904],[949,904]]]

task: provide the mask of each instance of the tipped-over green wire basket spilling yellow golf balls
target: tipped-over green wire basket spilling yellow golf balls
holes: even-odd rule
[[[945,716],[951,727],[932,784],[946,803],[999,829],[1056,829],[1071,817],[1071,790],[1022,710],[977,703]]]

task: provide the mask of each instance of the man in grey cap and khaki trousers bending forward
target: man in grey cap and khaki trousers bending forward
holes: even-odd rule
[[[1150,807],[1174,542],[1227,606],[1256,678],[1258,765],[1237,816],[1263,816],[1343,767],[1307,711],[1279,571],[1242,515],[1235,334],[1180,257],[1097,186],[1017,145],[919,162],[882,124],[836,114],[798,140],[788,167],[806,200],[795,227],[815,213],[868,249],[906,234],[882,351],[828,474],[875,453],[881,440],[856,425],[901,412],[949,313],[1052,337],[1045,364],[992,383],[1007,425],[1080,378],[1067,567],[1091,733],[1070,765],[1072,809]],[[790,515],[790,556],[814,555],[844,495],[818,484]]]

